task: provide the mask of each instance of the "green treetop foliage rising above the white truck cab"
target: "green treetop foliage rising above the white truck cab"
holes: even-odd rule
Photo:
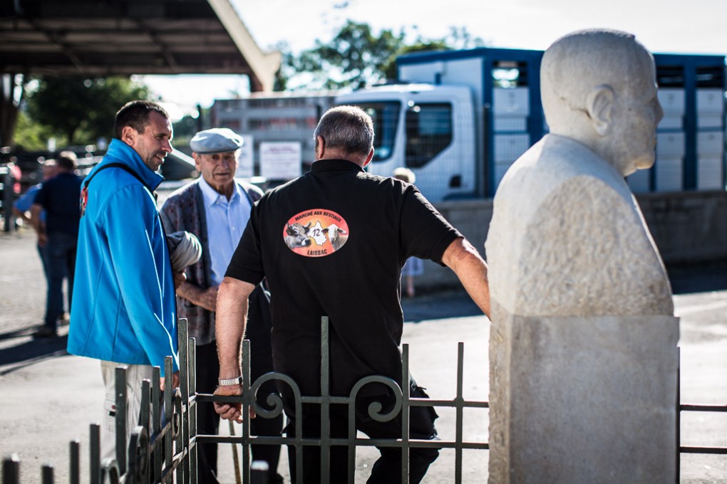
[[[285,44],[276,90],[361,88],[396,77],[395,60],[401,54],[484,46],[466,28],[451,27],[443,38],[417,36],[407,41],[406,30],[374,32],[365,22],[347,20],[330,41],[316,40],[313,49],[292,54]]]

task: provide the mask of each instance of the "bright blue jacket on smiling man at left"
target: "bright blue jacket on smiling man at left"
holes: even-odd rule
[[[163,178],[113,139],[103,165],[124,163],[150,189]],[[68,353],[116,363],[161,366],[177,354],[177,308],[169,252],[153,194],[121,168],[88,185],[73,284]]]

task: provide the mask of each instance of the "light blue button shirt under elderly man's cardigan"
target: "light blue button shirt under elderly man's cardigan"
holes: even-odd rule
[[[228,201],[225,195],[217,193],[204,179],[199,181],[207,219],[207,248],[209,261],[212,263],[212,284],[222,283],[252,209],[241,187],[236,183],[233,186],[234,192]]]

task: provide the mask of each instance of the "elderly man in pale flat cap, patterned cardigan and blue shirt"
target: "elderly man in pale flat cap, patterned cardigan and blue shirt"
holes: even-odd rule
[[[161,208],[161,218],[168,233],[189,231],[202,245],[202,258],[185,269],[185,280],[177,285],[179,317],[188,319],[189,335],[196,338],[197,393],[213,393],[218,385],[230,385],[217,381],[220,373],[214,340],[217,287],[247,225],[252,204],[262,197],[262,191],[256,186],[235,179],[237,155],[242,144],[242,137],[228,128],[197,133],[190,141],[190,148],[201,177],[172,193]],[[247,337],[251,341],[254,381],[273,370],[273,358],[270,298],[262,286],[253,294]],[[266,383],[261,390],[263,397],[276,392],[274,382]],[[199,434],[217,435],[219,422],[220,417],[212,403],[198,403]],[[282,424],[282,416],[257,418],[252,420],[250,431],[252,435],[280,435]],[[252,446],[253,459],[264,460],[270,466],[270,483],[282,482],[276,474],[279,456],[280,446]],[[198,482],[217,483],[217,444],[200,446]]]

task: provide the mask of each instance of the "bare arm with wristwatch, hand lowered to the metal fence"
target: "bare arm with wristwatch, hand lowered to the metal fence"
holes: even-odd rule
[[[214,332],[217,338],[217,356],[220,358],[220,380],[240,376],[242,367],[242,338],[247,318],[247,298],[254,285],[225,277],[217,293],[217,315]],[[214,390],[215,395],[241,395],[241,385],[225,385]],[[220,417],[241,422],[239,403],[214,403]]]

